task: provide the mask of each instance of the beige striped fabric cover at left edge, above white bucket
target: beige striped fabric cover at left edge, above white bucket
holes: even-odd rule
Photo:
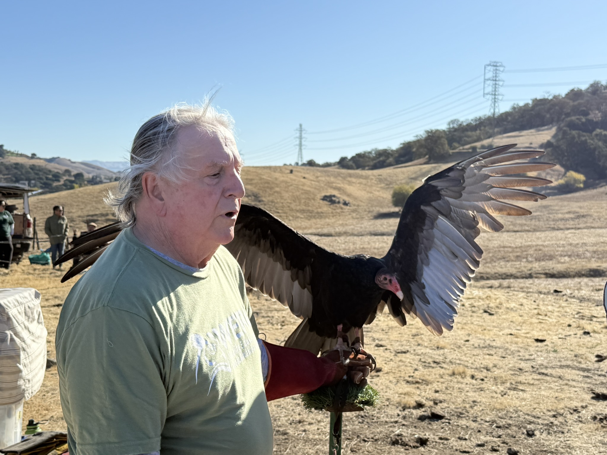
[[[46,335],[40,292],[0,289],[0,405],[29,400],[46,371]]]

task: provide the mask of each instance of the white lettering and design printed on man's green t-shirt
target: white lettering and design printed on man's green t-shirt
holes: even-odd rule
[[[211,383],[207,396],[211,393],[211,386],[215,376],[220,371],[232,371],[232,368],[240,365],[247,357],[259,347],[255,340],[251,340],[249,332],[251,322],[244,312],[237,311],[226,318],[224,323],[219,323],[217,328],[206,332],[206,335],[192,334],[191,343],[198,350],[196,359],[196,383],[198,383],[198,365],[202,358],[207,365],[212,367]]]

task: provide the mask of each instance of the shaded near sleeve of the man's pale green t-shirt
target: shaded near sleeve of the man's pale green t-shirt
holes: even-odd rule
[[[78,318],[57,343],[61,406],[78,455],[160,450],[164,358],[152,326],[107,306]]]

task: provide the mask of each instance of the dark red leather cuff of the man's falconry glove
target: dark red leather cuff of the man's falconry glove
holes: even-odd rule
[[[308,393],[334,382],[337,365],[304,349],[263,342],[268,351],[265,392],[268,401]]]

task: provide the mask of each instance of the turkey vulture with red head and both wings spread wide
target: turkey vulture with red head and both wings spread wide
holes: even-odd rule
[[[517,187],[551,181],[520,174],[554,164],[529,161],[543,155],[540,150],[513,147],[486,150],[427,177],[407,199],[392,246],[382,258],[329,251],[248,204],[241,204],[234,240],[226,248],[249,286],[302,318],[286,346],[317,354],[334,345],[338,335],[341,339],[342,331],[362,335],[362,326],[385,306],[399,325],[407,323],[409,314],[441,335],[453,328],[459,300],[480,265],[483,250],[475,242],[480,228],[501,231],[504,226],[493,215],[531,214],[504,200],[546,198]],[[119,229],[116,224],[109,231]],[[91,238],[95,248],[110,238],[110,232],[101,234]],[[75,250],[81,254],[83,248]],[[71,258],[70,252],[59,263]],[[89,266],[102,252],[81,264]],[[76,266],[62,281],[84,268]]]

